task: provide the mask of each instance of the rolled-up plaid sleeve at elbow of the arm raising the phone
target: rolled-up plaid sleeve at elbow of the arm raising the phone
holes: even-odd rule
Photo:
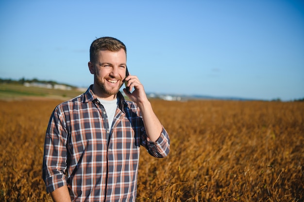
[[[170,138],[164,127],[160,136],[155,142],[152,142],[149,139],[144,128],[142,128],[142,132],[142,145],[147,149],[150,155],[157,158],[164,158],[169,154]]]

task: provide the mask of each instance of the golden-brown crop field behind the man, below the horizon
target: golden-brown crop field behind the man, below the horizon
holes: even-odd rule
[[[0,101],[0,201],[51,201],[41,164],[60,102]],[[142,149],[138,202],[304,201],[304,102],[151,102],[171,148]]]

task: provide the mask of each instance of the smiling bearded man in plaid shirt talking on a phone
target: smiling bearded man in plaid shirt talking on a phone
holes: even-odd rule
[[[140,145],[154,157],[168,155],[169,135],[138,78],[126,77],[126,61],[121,41],[96,39],[88,63],[94,84],[54,109],[43,157],[53,201],[134,202]],[[131,101],[119,92],[124,81]]]

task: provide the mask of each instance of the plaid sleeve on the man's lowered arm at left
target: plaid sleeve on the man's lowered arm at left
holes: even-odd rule
[[[57,106],[53,111],[46,132],[42,177],[47,192],[67,185],[67,130],[65,116]]]

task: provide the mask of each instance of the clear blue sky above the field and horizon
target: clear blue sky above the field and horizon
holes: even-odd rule
[[[113,36],[146,92],[304,98],[301,0],[1,0],[0,27],[0,78],[88,87]]]

